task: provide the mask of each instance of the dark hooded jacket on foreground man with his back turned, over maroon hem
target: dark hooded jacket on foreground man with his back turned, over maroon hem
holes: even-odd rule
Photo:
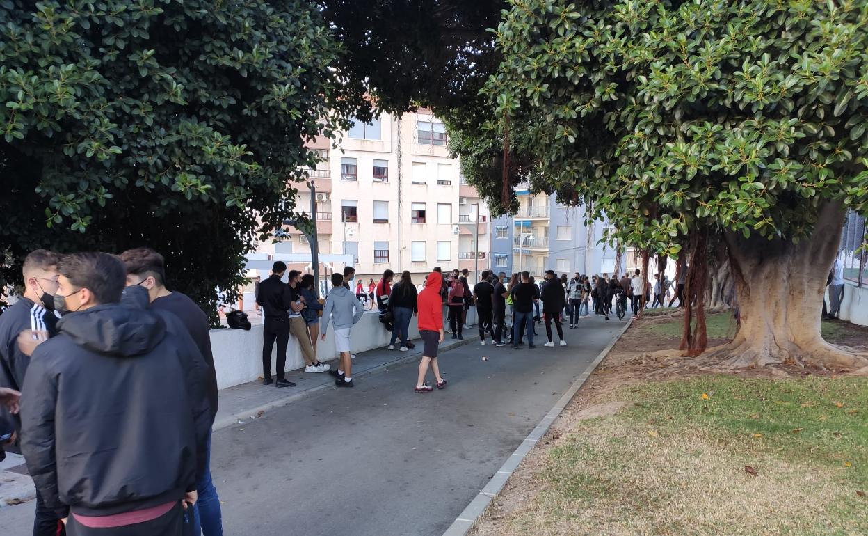
[[[65,315],[36,347],[22,451],[64,517],[181,500],[206,467],[207,364],[177,317],[112,303]]]

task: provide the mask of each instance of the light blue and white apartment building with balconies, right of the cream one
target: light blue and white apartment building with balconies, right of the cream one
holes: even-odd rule
[[[516,188],[516,195],[518,212],[491,223],[492,269],[507,274],[526,270],[537,279],[549,269],[570,276],[615,270],[615,248],[599,243],[608,222],[588,224],[582,207],[564,205],[554,195],[533,194],[526,184]],[[623,254],[621,269],[630,268],[632,258]]]

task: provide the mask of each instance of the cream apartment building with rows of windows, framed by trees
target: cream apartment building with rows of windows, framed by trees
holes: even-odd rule
[[[313,142],[322,158],[309,170],[315,192],[300,185],[296,207],[309,212],[315,195],[319,254],[352,255],[356,274],[375,281],[387,268],[409,270],[416,282],[435,266],[487,268],[489,211],[462,181],[446,142],[443,122],[425,109],[355,122],[339,148],[327,138]],[[310,253],[298,229],[280,238],[258,252]],[[320,275],[344,268],[321,264]]]

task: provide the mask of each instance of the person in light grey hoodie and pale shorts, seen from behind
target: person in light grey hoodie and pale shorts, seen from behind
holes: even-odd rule
[[[328,332],[329,323],[334,324],[334,346],[340,352],[340,364],[337,371],[332,371],[335,377],[335,387],[353,387],[352,357],[350,353],[350,332],[352,327],[362,319],[365,306],[352,293],[340,286],[340,274],[332,274],[332,291],[325,298],[323,308],[323,334]]]

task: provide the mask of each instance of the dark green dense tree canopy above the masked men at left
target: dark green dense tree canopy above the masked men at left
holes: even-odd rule
[[[0,252],[150,246],[215,312],[359,104],[306,0],[0,1]],[[358,86],[358,84],[357,84]]]

